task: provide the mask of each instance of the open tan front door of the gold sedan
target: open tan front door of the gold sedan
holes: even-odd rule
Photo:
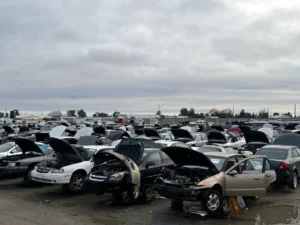
[[[266,194],[264,157],[241,160],[225,172],[226,196],[263,196]],[[261,163],[261,167],[259,167]]]

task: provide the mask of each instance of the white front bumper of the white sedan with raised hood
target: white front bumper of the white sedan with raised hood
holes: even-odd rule
[[[47,184],[69,184],[71,175],[70,173],[39,173],[36,170],[31,172],[32,180]]]

